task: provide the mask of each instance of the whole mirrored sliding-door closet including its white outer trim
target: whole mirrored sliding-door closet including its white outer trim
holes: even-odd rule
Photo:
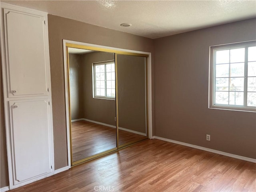
[[[70,166],[150,138],[150,53],[69,40],[63,50]]]

